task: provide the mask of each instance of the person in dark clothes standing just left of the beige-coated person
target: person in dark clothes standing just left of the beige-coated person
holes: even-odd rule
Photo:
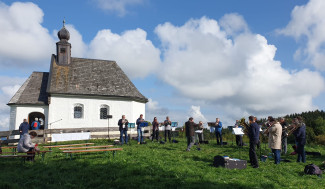
[[[259,143],[260,127],[255,122],[254,116],[249,116],[249,161],[253,168],[258,168],[258,161],[256,156],[256,145]]]

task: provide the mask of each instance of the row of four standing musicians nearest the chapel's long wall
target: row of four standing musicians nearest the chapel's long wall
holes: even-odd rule
[[[138,144],[141,144],[144,142],[143,140],[143,128],[147,126],[145,123],[145,120],[143,119],[143,114],[140,114],[140,117],[136,120],[137,125],[137,133],[138,133]],[[119,131],[120,131],[120,142],[122,144],[128,143],[128,124],[129,121],[125,118],[125,115],[122,115],[122,118],[118,121]],[[157,117],[154,117],[152,121],[152,141],[154,139],[159,140],[159,126],[164,125],[165,126],[165,142],[167,142],[167,138],[169,142],[171,142],[171,124],[169,117],[166,117],[166,120],[163,123],[159,123]]]

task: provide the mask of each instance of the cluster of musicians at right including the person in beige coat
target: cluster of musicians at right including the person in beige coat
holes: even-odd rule
[[[290,134],[295,136],[298,154],[297,162],[306,162],[304,146],[306,144],[306,125],[301,117],[294,118],[292,125],[288,126],[284,118],[279,120],[268,117],[268,121],[265,124],[266,129],[263,131],[264,135],[268,135],[268,144],[271,148],[274,163],[279,164],[281,160],[281,149],[285,154],[287,153],[287,137],[288,130]],[[249,137],[249,160],[253,168],[258,168],[258,161],[256,155],[256,146],[260,144],[260,126],[256,123],[256,117],[249,117],[248,137]]]

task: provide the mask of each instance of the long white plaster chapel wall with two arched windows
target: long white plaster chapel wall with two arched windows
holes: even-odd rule
[[[74,105],[83,105],[83,118],[74,118]],[[72,96],[51,96],[49,105],[49,123],[62,119],[51,124],[51,128],[82,128],[82,127],[107,127],[107,119],[100,119],[101,105],[109,106],[110,127],[117,127],[118,120],[125,115],[129,122],[135,122],[139,115],[145,112],[145,103],[134,101],[121,101],[116,99],[72,97]]]

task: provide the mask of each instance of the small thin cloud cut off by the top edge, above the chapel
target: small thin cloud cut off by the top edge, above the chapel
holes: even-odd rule
[[[143,4],[144,0],[94,0],[98,7],[110,12],[116,12],[118,16],[128,13],[126,7]]]

